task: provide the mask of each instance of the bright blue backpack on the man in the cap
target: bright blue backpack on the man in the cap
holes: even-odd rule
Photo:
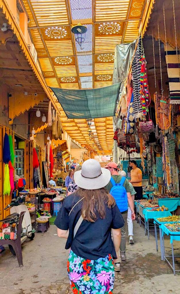
[[[113,187],[110,190],[110,194],[116,200],[116,204],[120,212],[124,212],[128,210],[128,196],[126,193],[126,189],[123,186],[125,179],[126,179],[125,177],[122,177],[119,184],[116,183],[112,177],[110,180],[113,185]]]

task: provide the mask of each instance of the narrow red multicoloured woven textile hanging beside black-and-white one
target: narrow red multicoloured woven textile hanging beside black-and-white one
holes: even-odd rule
[[[146,115],[147,114],[147,107],[149,107],[150,103],[151,103],[151,96],[150,96],[149,87],[148,87],[145,55],[141,56],[140,64],[141,64],[140,103],[142,106],[142,112],[144,115]]]

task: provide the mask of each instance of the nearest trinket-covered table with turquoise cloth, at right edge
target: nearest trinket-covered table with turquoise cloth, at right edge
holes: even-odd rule
[[[162,244],[163,244],[163,260],[166,261],[170,267],[173,270],[174,275],[176,272],[180,272],[180,269],[176,270],[175,268],[175,258],[180,258],[180,255],[174,255],[174,250],[179,250],[180,248],[174,249],[173,241],[180,241],[180,222],[176,223],[165,223],[161,225],[162,230]],[[164,234],[170,236],[170,244],[171,244],[171,250],[165,252],[164,247]],[[172,253],[172,255],[166,255],[168,252]],[[172,258],[172,264],[168,260],[168,258]]]

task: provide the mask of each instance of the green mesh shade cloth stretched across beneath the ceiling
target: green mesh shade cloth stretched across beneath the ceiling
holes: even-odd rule
[[[89,90],[51,90],[68,118],[101,118],[115,115],[119,88],[120,83]]]

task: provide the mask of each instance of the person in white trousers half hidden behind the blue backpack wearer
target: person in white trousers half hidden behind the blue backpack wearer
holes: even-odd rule
[[[120,171],[119,172],[120,176],[126,177],[126,172],[125,171]],[[133,204],[134,204],[134,196],[136,194],[136,191],[131,183],[129,183],[129,188],[130,188],[130,194],[133,199]],[[128,218],[127,218],[127,224],[128,224],[128,235],[129,235],[129,243],[134,244],[133,241],[133,221],[131,217],[131,210],[128,204]]]

